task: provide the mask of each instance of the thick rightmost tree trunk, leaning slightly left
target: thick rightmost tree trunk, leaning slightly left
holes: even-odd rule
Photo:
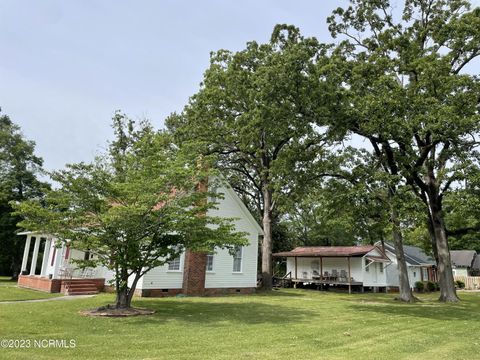
[[[439,196],[430,198],[430,210],[432,214],[432,228],[435,235],[437,256],[438,256],[438,282],[440,285],[440,301],[458,302],[455,282],[453,279],[452,263],[448,248],[448,238],[443,220],[441,199]],[[430,197],[429,196],[429,197]]]

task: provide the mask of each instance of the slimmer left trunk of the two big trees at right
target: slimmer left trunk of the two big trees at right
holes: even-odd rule
[[[395,191],[389,189],[389,200],[391,204],[391,221],[393,225],[392,235],[393,235],[393,245],[395,247],[395,257],[397,258],[398,264],[398,284],[400,294],[398,300],[405,302],[414,302],[415,297],[412,294],[412,289],[410,287],[410,280],[408,279],[408,268],[407,262],[405,260],[405,253],[403,252],[403,236],[400,230],[400,220],[398,219],[397,209],[395,208],[395,203],[393,201]]]

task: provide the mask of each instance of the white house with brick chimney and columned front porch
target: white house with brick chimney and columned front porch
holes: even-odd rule
[[[248,234],[248,245],[237,248],[233,256],[222,249],[216,249],[213,255],[187,251],[178,259],[145,274],[137,284],[138,295],[210,295],[254,291],[257,285],[258,240],[263,234],[262,229],[228,184],[223,184],[216,191],[223,193],[224,198],[217,199],[217,209],[209,210],[209,215],[235,218],[236,230]],[[94,254],[73,249],[65,243],[58,245],[58,241],[48,234],[24,232],[22,235],[26,235],[26,242],[19,286],[69,294],[93,293],[102,290],[113,278],[106,268],[80,270],[72,262],[73,259],[92,258]],[[55,243],[59,247],[55,247]]]

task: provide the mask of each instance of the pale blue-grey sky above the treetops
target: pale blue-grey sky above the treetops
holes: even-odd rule
[[[0,107],[47,170],[90,161],[112,138],[115,110],[160,128],[198,90],[211,51],[267,42],[278,23],[331,42],[326,18],[345,4],[1,0]]]

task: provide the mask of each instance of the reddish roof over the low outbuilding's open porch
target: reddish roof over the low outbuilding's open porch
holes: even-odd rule
[[[363,246],[305,246],[297,247],[292,251],[284,251],[273,254],[273,256],[284,257],[301,257],[301,256],[325,256],[325,257],[342,257],[342,256],[361,256],[375,249],[373,245]]]

